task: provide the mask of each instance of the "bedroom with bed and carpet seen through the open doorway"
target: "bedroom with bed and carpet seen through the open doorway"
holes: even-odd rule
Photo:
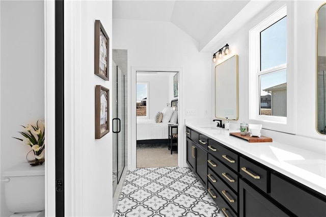
[[[178,72],[136,72],[137,168],[178,166]]]

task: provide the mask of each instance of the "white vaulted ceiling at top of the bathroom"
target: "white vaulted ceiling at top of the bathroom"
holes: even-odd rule
[[[172,22],[203,48],[249,3],[227,1],[113,1],[114,19]]]

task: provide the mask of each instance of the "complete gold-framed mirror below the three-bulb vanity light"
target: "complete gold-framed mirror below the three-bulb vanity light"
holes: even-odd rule
[[[238,120],[238,56],[215,66],[215,117]]]

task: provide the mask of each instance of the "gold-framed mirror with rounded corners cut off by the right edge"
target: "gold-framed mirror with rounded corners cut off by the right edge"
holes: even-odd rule
[[[316,12],[316,130],[326,134],[326,3]]]

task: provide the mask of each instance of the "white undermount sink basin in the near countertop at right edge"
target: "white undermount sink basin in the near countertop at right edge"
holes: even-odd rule
[[[326,160],[322,160],[322,159],[285,160],[285,162],[295,167],[314,173],[318,176],[326,178]]]

